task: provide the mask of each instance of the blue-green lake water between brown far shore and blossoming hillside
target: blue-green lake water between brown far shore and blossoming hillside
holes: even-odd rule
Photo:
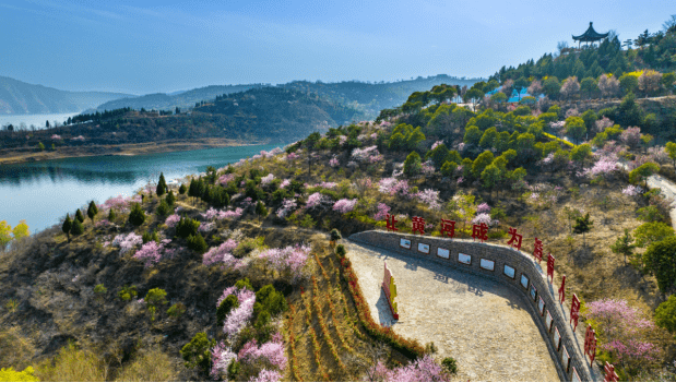
[[[236,163],[280,145],[232,146],[142,156],[98,156],[0,166],[0,220],[12,227],[26,219],[31,232],[50,227],[66,213],[94,200],[131,195],[156,181],[163,171],[171,179]],[[83,212],[85,213],[85,212]]]

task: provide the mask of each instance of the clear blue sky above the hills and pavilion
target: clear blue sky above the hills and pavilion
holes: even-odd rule
[[[673,0],[0,0],[0,75],[134,94],[487,76],[572,44],[590,21],[624,40],[675,13]]]

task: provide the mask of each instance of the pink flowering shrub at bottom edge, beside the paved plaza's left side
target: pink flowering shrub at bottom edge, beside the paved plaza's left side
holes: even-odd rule
[[[432,359],[431,356],[425,355],[417,358],[411,363],[402,367],[396,367],[392,370],[378,361],[375,369],[375,381],[383,382],[448,382],[449,376],[441,369],[441,366]]]

